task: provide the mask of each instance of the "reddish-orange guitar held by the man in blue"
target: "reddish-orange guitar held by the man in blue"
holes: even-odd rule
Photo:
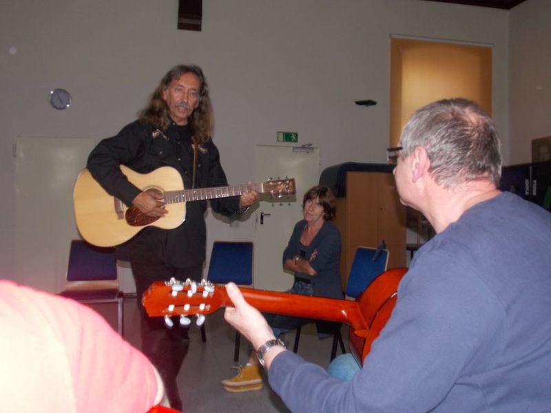
[[[355,301],[324,297],[309,297],[291,293],[240,288],[251,306],[265,313],[291,315],[309,319],[337,321],[351,326],[351,351],[360,363],[371,350],[396,304],[398,284],[407,268],[393,268],[381,275]],[[187,280],[154,282],[143,295],[143,306],[149,317],[165,317],[171,326],[172,317],[179,316],[180,324],[188,325],[190,316],[201,325],[205,315],[220,307],[233,306],[220,284],[202,280],[196,284]]]

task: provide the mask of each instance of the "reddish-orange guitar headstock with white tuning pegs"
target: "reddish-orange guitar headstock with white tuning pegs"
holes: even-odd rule
[[[180,317],[180,324],[191,324],[190,316],[196,316],[196,324],[205,322],[205,315],[231,301],[225,288],[220,288],[203,279],[200,283],[187,279],[179,282],[171,278],[169,282],[154,282],[142,298],[142,304],[149,317],[165,317],[167,326],[172,327],[171,317]]]

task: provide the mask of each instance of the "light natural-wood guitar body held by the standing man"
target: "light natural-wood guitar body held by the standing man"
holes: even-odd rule
[[[160,167],[150,173],[137,173],[121,165],[128,180],[142,191],[182,191],[184,184],[180,173],[171,167]],[[76,178],[73,192],[76,227],[81,236],[96,246],[123,244],[147,226],[174,229],[185,220],[185,202],[165,204],[169,211],[163,218],[149,224],[133,226],[125,220],[127,207],[109,195],[84,169]],[[116,204],[118,202],[118,204]]]

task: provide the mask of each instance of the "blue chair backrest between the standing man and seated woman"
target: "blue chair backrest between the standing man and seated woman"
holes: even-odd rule
[[[215,241],[207,279],[217,284],[253,284],[253,243]]]

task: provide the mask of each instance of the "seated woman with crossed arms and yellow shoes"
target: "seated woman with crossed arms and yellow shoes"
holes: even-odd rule
[[[313,187],[304,194],[304,219],[295,224],[289,244],[283,251],[283,268],[295,275],[288,293],[342,299],[340,233],[329,222],[335,216],[335,204],[335,196],[328,187]],[[275,337],[311,321],[284,315],[264,316]],[[260,390],[262,375],[256,353],[251,352],[247,366],[238,368],[236,377],[222,380],[222,385],[229,392]]]

